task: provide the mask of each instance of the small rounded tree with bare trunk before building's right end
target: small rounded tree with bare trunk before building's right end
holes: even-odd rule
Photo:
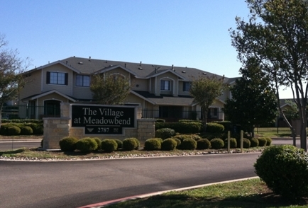
[[[204,132],[207,130],[209,106],[215,103],[216,98],[221,96],[225,86],[224,76],[199,77],[199,79],[192,81],[189,92],[194,97],[194,102],[201,106]]]

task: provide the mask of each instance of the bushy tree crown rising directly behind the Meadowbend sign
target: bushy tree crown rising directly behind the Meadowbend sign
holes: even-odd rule
[[[128,79],[121,75],[96,74],[92,77],[90,90],[94,100],[104,105],[122,103],[131,91]]]

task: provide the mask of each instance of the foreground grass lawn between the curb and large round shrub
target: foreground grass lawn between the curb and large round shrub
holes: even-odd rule
[[[210,185],[194,190],[167,192],[141,200],[111,204],[108,207],[187,208],[187,207],[308,207],[308,199],[288,202],[273,194],[260,179]]]

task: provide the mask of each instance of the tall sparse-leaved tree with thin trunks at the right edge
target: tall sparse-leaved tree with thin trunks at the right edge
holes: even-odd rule
[[[301,148],[307,151],[308,1],[246,0],[248,21],[236,18],[232,45],[245,66],[253,57],[278,88],[292,88],[301,120]],[[283,115],[282,110],[280,112]],[[285,116],[284,116],[285,117]],[[295,131],[288,124],[295,138]]]

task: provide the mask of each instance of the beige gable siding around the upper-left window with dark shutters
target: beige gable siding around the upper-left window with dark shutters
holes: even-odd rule
[[[55,64],[53,66],[47,67],[42,69],[43,71],[43,78],[42,78],[42,92],[56,90],[60,93],[63,93],[67,96],[72,96],[72,70],[68,69],[61,64]],[[58,85],[58,84],[48,84],[46,83],[47,71],[54,71],[54,72],[63,72],[68,73],[68,84],[67,85]]]

